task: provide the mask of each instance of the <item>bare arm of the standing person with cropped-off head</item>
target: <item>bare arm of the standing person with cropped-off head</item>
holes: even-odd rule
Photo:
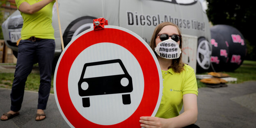
[[[43,7],[45,7],[52,1],[53,0],[42,0],[40,2],[34,3],[33,5],[30,5],[27,2],[23,2],[23,3],[21,3],[21,5],[19,6],[18,9],[19,9],[19,11],[21,11],[23,13],[33,14],[33,13],[41,10]]]

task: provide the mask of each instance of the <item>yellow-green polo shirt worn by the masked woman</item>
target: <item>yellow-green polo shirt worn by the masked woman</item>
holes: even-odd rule
[[[158,112],[155,117],[177,117],[182,109],[184,94],[198,94],[197,79],[194,69],[185,64],[181,73],[175,73],[172,69],[162,71],[163,94]]]

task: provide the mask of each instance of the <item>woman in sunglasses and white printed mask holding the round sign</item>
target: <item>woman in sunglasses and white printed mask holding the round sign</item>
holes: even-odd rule
[[[182,62],[182,37],[177,25],[159,24],[150,46],[158,58],[163,78],[163,95],[155,117],[140,117],[145,128],[199,128],[197,80],[194,69]],[[184,104],[184,112],[179,114]]]

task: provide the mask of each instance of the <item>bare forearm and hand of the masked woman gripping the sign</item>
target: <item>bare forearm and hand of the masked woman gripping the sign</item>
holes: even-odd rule
[[[197,121],[197,95],[183,95],[184,112],[177,117],[163,119],[158,117],[140,117],[140,126],[144,128],[182,128]]]

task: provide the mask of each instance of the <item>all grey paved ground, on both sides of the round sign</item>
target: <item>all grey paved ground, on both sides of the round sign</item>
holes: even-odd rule
[[[0,88],[0,114],[9,111],[10,92],[10,89]],[[45,111],[47,118],[35,121],[37,98],[37,92],[25,91],[20,115],[0,121],[0,128],[69,128],[59,113],[53,94]],[[201,128],[256,128],[256,81],[200,88],[198,110],[196,124]]]

